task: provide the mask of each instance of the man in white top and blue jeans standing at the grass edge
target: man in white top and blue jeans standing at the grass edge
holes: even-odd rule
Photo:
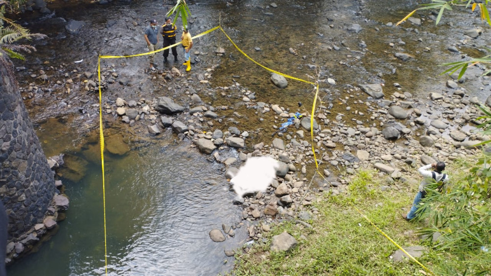
[[[431,171],[430,168],[432,168],[433,171]],[[445,173],[442,173],[444,169],[445,163],[443,162],[433,163],[418,168],[418,172],[424,177],[424,179],[419,185],[419,191],[414,197],[411,210],[409,210],[409,213],[407,215],[402,214],[403,219],[405,219],[406,221],[410,221],[415,218],[415,213],[416,210],[418,210],[419,202],[426,196],[425,187],[428,184],[435,182],[439,183],[440,186],[438,187],[438,190],[441,192],[441,190],[443,189],[443,184],[448,182],[448,176]]]

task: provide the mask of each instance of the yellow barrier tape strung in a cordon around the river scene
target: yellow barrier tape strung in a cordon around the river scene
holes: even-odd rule
[[[223,30],[223,28],[221,28],[221,26],[217,26],[215,28],[211,28],[207,31],[204,31],[198,35],[195,35],[193,37],[191,37],[191,39],[194,39],[194,38],[198,38],[200,36],[203,36],[205,34],[208,34],[216,29],[220,29],[223,34],[228,38],[228,40],[234,45],[234,47],[244,56],[246,56],[249,60],[251,60],[252,62],[254,62],[256,65],[270,71],[270,72],[273,72],[273,73],[276,73],[278,75],[281,75],[285,78],[288,78],[288,79],[292,79],[292,80],[296,80],[296,81],[299,81],[299,82],[303,82],[303,83],[309,83],[309,84],[312,84],[312,85],[315,85],[316,87],[316,92],[315,92],[315,96],[314,96],[314,101],[312,103],[312,112],[311,112],[311,116],[310,116],[310,138],[311,138],[311,141],[312,141],[312,153],[313,153],[313,156],[314,156],[314,161],[315,161],[315,166],[316,166],[316,172],[324,178],[324,176],[321,174],[321,172],[319,171],[319,164],[317,162],[317,158],[316,158],[316,155],[315,155],[315,148],[314,148],[314,114],[315,114],[315,106],[316,106],[316,103],[317,103],[317,98],[319,97],[319,83],[318,82],[315,82],[315,83],[312,83],[312,82],[309,82],[309,81],[305,81],[305,80],[302,80],[302,79],[299,79],[299,78],[296,78],[296,77],[292,77],[292,76],[289,76],[289,75],[286,75],[286,74],[283,74],[281,72],[278,72],[278,71],[275,71],[273,69],[270,69],[262,64],[260,64],[259,62],[255,61],[254,59],[252,59],[251,57],[249,57],[246,53],[244,53],[244,51],[242,51],[233,41],[232,39],[228,36],[228,34]],[[170,49],[174,46],[177,46],[179,44],[182,44],[182,42],[178,42],[178,43],[175,43],[175,44],[172,44],[170,46],[167,46],[165,48],[162,48],[162,49],[159,49],[159,50],[156,50],[156,51],[152,51],[152,52],[148,52],[148,53],[142,53],[142,54],[136,54],[136,55],[99,55],[99,61],[98,61],[98,65],[97,65],[97,73],[98,73],[98,77],[99,77],[99,128],[100,128],[100,133],[99,133],[99,136],[100,136],[100,143],[101,143],[101,163],[102,163],[102,191],[103,191],[103,208],[104,208],[104,257],[105,257],[105,269],[106,269],[106,275],[108,275],[108,249],[107,249],[107,235],[106,235],[106,188],[105,188],[105,176],[104,176],[104,133],[103,133],[103,124],[102,124],[102,91],[101,91],[101,58],[121,58],[121,57],[135,57],[135,56],[142,56],[142,55],[152,55],[152,54],[155,54],[155,53],[158,53],[158,52],[161,52],[161,51],[164,51],[166,49]],[[361,213],[360,210],[358,210],[355,206],[353,206],[355,208],[355,210],[365,219],[367,220],[370,224],[372,224],[379,232],[382,233],[382,235],[387,238],[392,244],[394,244],[397,248],[401,249],[406,255],[409,256],[409,258],[411,260],[413,260],[414,262],[416,262],[418,265],[420,265],[422,268],[424,268],[426,271],[428,271],[431,275],[435,275],[432,271],[430,271],[428,268],[426,268],[423,264],[421,264],[420,262],[418,262],[413,256],[411,256],[406,250],[404,250],[401,246],[399,246],[396,242],[394,242],[394,240],[392,240],[389,236],[387,236],[381,229],[379,229],[379,227],[377,227],[372,221],[370,221],[363,213]]]

